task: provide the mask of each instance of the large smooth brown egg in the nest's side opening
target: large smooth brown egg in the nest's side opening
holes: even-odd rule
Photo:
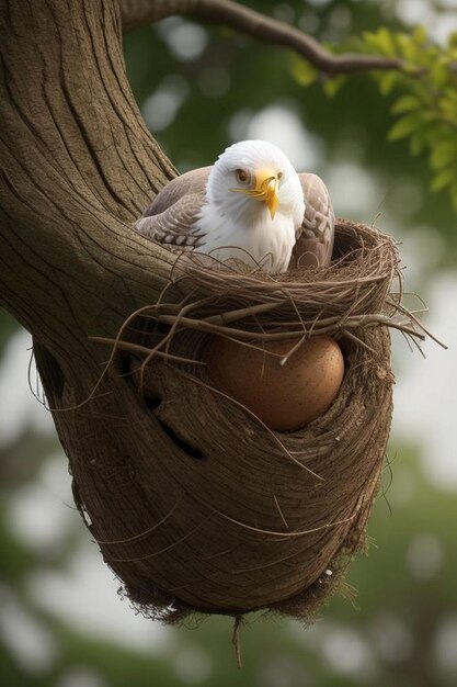
[[[306,340],[282,365],[281,360],[296,341],[255,344],[263,349],[258,350],[215,337],[205,356],[212,381],[271,429],[298,429],[325,413],[335,399],[344,359],[334,339],[317,336]]]

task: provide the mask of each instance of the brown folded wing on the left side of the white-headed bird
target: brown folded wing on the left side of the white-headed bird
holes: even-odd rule
[[[193,225],[204,202],[209,171],[210,167],[202,167],[170,181],[135,223],[135,229],[170,247],[197,248],[202,234]]]

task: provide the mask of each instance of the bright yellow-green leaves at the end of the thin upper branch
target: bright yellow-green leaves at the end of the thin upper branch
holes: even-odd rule
[[[391,113],[397,121],[388,139],[409,139],[412,156],[427,153],[432,170],[432,191],[448,189],[457,210],[457,33],[441,47],[418,25],[411,33],[393,32],[386,26],[365,32],[349,42],[361,54],[401,59],[402,69],[374,71],[373,78],[384,97],[392,94]],[[339,50],[342,46],[339,46]],[[294,76],[302,86],[320,79],[319,71],[306,60],[294,58]],[[351,78],[338,75],[322,80],[327,95],[333,97]]]

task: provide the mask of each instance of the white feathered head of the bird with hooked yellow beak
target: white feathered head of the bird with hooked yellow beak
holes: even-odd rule
[[[266,140],[242,140],[227,148],[212,169],[206,199],[220,215],[245,226],[273,222],[279,214],[298,227],[305,213],[297,172]]]

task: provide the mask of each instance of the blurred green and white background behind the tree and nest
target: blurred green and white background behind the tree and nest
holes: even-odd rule
[[[384,24],[457,31],[456,0],[247,2],[323,42]],[[386,143],[389,98],[359,75],[332,99],[304,89],[287,50],[172,18],[125,40],[145,120],[180,171],[243,138],[279,145],[330,188],[336,214],[401,241],[407,290],[430,306],[425,359],[393,335],[395,420],[353,564],[355,602],[335,597],[309,628],[252,618],[167,628],[136,616],[75,509],[67,461],[27,384],[31,339],[0,313],[0,684],[4,687],[447,687],[457,684],[457,216],[431,194],[424,156]],[[33,391],[39,390],[33,368]]]

